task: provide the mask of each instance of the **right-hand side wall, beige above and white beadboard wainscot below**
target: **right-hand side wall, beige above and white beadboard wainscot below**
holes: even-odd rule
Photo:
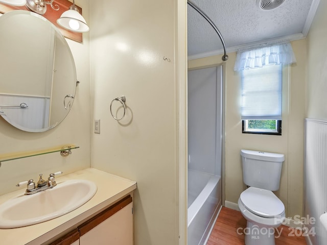
[[[327,119],[327,2],[320,1],[316,15],[310,27],[307,41],[308,52],[308,79],[307,79],[307,111],[306,117],[315,119]],[[325,133],[324,127],[317,122],[311,122],[318,130],[316,134],[311,134],[308,140],[306,150],[307,170],[305,195],[305,213],[315,218],[314,224],[307,224],[312,227],[315,236],[311,236],[311,244],[324,244],[326,240],[326,231],[321,226],[319,216],[326,208],[327,192],[326,185],[323,183],[325,176]],[[318,125],[318,126],[316,126]],[[313,126],[311,126],[313,128]],[[309,127],[310,129],[310,127]],[[309,131],[312,132],[312,131]],[[316,137],[317,139],[315,140]],[[310,144],[311,143],[311,144]],[[313,153],[319,153],[313,155]],[[319,158],[320,157],[320,160]],[[315,175],[312,175],[314,173]],[[321,174],[322,173],[322,174]],[[320,177],[320,178],[319,178]],[[314,190],[311,190],[314,188]],[[309,244],[309,243],[308,243]]]

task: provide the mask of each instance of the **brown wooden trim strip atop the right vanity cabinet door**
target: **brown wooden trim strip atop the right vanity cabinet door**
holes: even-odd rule
[[[119,202],[115,203],[111,207],[105,209],[101,213],[97,214],[96,216],[92,217],[91,219],[87,220],[84,224],[78,227],[80,231],[80,236],[84,235],[86,232],[90,231],[91,229],[95,228],[100,223],[104,222],[107,218],[115,214],[116,212],[120,211],[122,208],[126,207],[133,201],[132,197],[128,195],[127,197],[123,198]]]

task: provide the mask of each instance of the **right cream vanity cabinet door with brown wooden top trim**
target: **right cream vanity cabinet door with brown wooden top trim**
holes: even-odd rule
[[[80,230],[80,245],[132,245],[133,203],[129,196],[103,211]]]

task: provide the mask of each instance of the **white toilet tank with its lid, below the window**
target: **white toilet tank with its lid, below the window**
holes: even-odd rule
[[[243,182],[265,190],[278,190],[284,154],[241,150]]]

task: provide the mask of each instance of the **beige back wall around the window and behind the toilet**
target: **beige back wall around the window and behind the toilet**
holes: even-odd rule
[[[276,191],[286,215],[302,215],[303,192],[303,119],[305,117],[306,40],[292,42],[297,63],[284,69],[282,136],[242,134],[240,112],[241,80],[233,71],[236,53],[228,54],[225,65],[225,200],[237,207],[245,189],[242,177],[241,149],[283,153],[281,188]],[[189,68],[221,63],[220,56],[189,61]],[[288,76],[290,80],[288,82]]]

